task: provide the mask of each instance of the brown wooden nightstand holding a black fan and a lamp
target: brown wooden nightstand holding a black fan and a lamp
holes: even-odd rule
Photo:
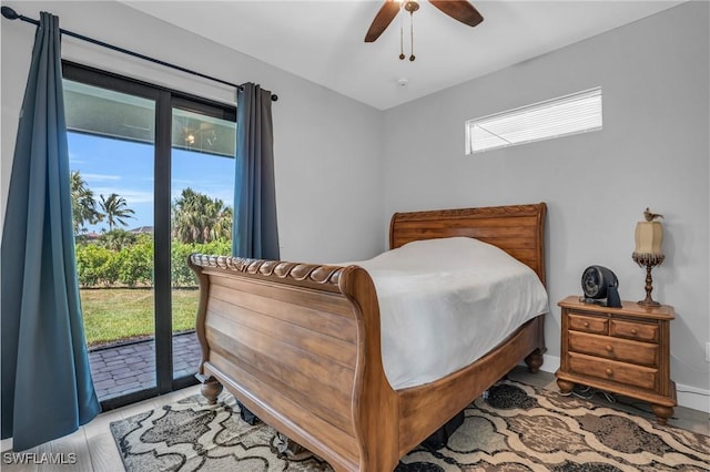
[[[651,403],[659,424],[672,417],[676,383],[670,379],[670,321],[673,307],[622,301],[608,308],[569,296],[562,308],[560,368],[562,393],[575,383]]]

